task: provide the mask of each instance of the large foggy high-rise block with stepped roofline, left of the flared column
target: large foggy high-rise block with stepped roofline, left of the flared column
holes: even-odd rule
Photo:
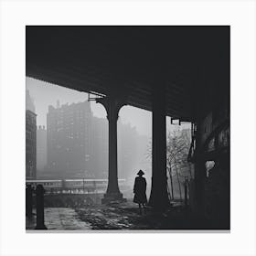
[[[48,107],[48,170],[59,177],[91,173],[91,116],[88,101]]]

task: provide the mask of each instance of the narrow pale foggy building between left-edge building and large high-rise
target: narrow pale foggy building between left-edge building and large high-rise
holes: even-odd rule
[[[37,127],[37,170],[43,171],[47,166],[47,130],[44,125]]]

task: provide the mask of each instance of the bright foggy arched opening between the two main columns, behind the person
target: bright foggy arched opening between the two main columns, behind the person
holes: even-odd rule
[[[133,183],[138,171],[144,171],[150,197],[152,159],[152,112],[132,106],[123,106],[118,120],[118,176],[125,179],[127,187],[123,191],[127,198],[133,198]]]

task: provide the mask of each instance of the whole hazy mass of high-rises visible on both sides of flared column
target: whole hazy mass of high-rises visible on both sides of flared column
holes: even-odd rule
[[[143,143],[143,145],[141,145]],[[118,176],[137,173],[147,139],[130,124],[118,123]],[[49,106],[47,115],[47,169],[51,178],[107,178],[108,120],[93,116],[88,101]]]

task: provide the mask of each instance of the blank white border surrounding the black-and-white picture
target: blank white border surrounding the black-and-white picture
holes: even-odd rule
[[[0,3],[1,255],[256,255],[254,1]],[[26,233],[26,25],[231,26],[230,233]]]

